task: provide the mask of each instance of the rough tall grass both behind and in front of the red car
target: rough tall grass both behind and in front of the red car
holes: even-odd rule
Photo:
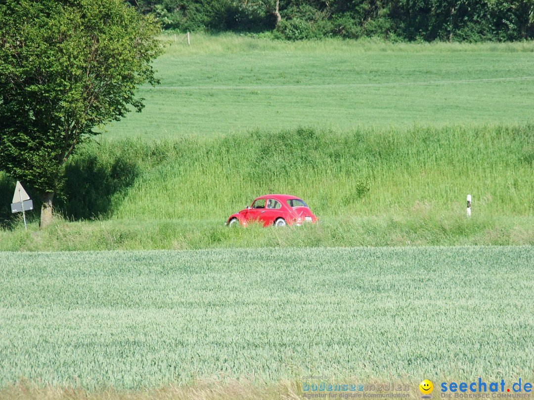
[[[7,207],[14,182],[0,178],[0,247],[276,245],[281,233],[223,227],[229,215],[266,193],[299,196],[323,221],[299,233],[288,230],[296,246],[528,244],[534,217],[532,130],[455,125],[100,140],[67,165],[57,210],[78,222],[65,228],[59,220],[41,233],[33,222],[33,234],[26,234]],[[470,220],[467,194],[473,196]],[[64,243],[69,235],[72,241]]]

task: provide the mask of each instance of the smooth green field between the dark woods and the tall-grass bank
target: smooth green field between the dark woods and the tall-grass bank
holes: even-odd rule
[[[161,138],[298,126],[532,122],[534,79],[389,86],[532,77],[532,51],[533,43],[284,43],[200,35],[190,47],[170,45],[155,63],[161,86],[140,90],[143,113],[115,123],[109,134]]]

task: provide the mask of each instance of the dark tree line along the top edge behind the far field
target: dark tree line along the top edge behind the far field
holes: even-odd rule
[[[166,29],[268,32],[290,40],[400,41],[534,37],[534,0],[128,0]]]

